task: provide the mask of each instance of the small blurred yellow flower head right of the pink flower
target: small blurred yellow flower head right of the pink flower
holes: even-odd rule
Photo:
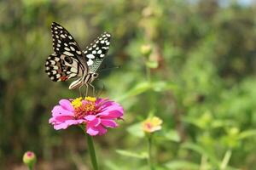
[[[145,121],[143,121],[143,131],[145,133],[154,133],[155,131],[159,131],[162,127],[162,120],[157,117],[149,117]]]

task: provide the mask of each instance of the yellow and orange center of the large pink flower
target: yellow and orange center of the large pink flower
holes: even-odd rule
[[[84,116],[87,115],[96,115],[96,98],[93,97],[85,97],[74,99],[72,102],[74,107],[74,117],[76,119],[83,119]]]

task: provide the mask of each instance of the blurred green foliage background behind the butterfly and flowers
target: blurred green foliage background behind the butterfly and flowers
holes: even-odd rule
[[[249,0],[20,0],[0,2],[0,169],[90,169],[79,127],[55,131],[59,99],[79,96],[44,72],[51,22],[85,48],[112,34],[97,94],[125,121],[95,138],[100,169],[148,169],[137,130],[159,116],[156,169],[256,169],[256,3]],[[119,151],[117,151],[119,150]]]

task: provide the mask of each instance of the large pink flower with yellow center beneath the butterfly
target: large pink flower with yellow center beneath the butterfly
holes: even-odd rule
[[[117,127],[116,119],[122,119],[124,110],[121,105],[109,99],[61,99],[55,105],[49,123],[55,130],[66,129],[71,125],[86,125],[86,133],[91,136],[107,133],[107,127]]]

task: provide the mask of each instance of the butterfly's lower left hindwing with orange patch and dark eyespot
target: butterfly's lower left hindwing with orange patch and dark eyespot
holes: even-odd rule
[[[82,68],[79,60],[64,54],[50,54],[45,63],[45,72],[54,82],[65,82],[73,77],[80,77]]]

